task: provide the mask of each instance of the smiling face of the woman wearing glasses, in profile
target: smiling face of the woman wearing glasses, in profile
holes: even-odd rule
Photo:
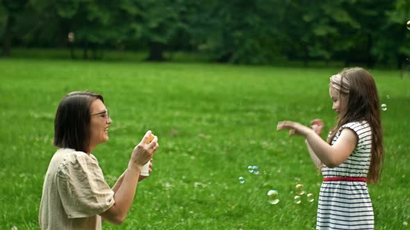
[[[108,141],[108,125],[112,122],[104,103],[97,99],[90,107],[90,151],[100,143]]]

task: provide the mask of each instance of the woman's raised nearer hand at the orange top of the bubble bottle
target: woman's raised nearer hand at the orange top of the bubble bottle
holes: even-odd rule
[[[142,138],[141,142],[133,149],[129,161],[129,166],[132,168],[141,168],[144,166],[145,163],[154,156],[156,150],[158,150],[159,145],[157,136],[155,136],[150,143],[147,143],[147,139],[150,135],[151,131],[149,130]]]

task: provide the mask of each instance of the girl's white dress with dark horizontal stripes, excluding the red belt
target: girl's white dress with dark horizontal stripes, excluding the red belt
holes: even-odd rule
[[[331,145],[345,128],[353,130],[359,141],[345,162],[336,168],[322,167],[323,177],[367,177],[370,166],[372,130],[366,121],[343,125]],[[331,133],[329,133],[329,136]],[[374,229],[375,219],[366,182],[322,182],[316,229]]]

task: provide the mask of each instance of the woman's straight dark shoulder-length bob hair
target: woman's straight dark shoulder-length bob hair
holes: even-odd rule
[[[104,103],[103,97],[99,94],[74,91],[60,101],[54,120],[54,145],[89,152],[90,107],[97,99]]]

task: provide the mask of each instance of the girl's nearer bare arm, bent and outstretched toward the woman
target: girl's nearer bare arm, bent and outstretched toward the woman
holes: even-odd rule
[[[288,129],[289,134],[306,137],[306,142],[313,153],[329,168],[334,168],[343,163],[356,148],[357,136],[350,129],[344,129],[334,145],[329,145],[311,128],[293,121],[278,123],[277,130]]]

